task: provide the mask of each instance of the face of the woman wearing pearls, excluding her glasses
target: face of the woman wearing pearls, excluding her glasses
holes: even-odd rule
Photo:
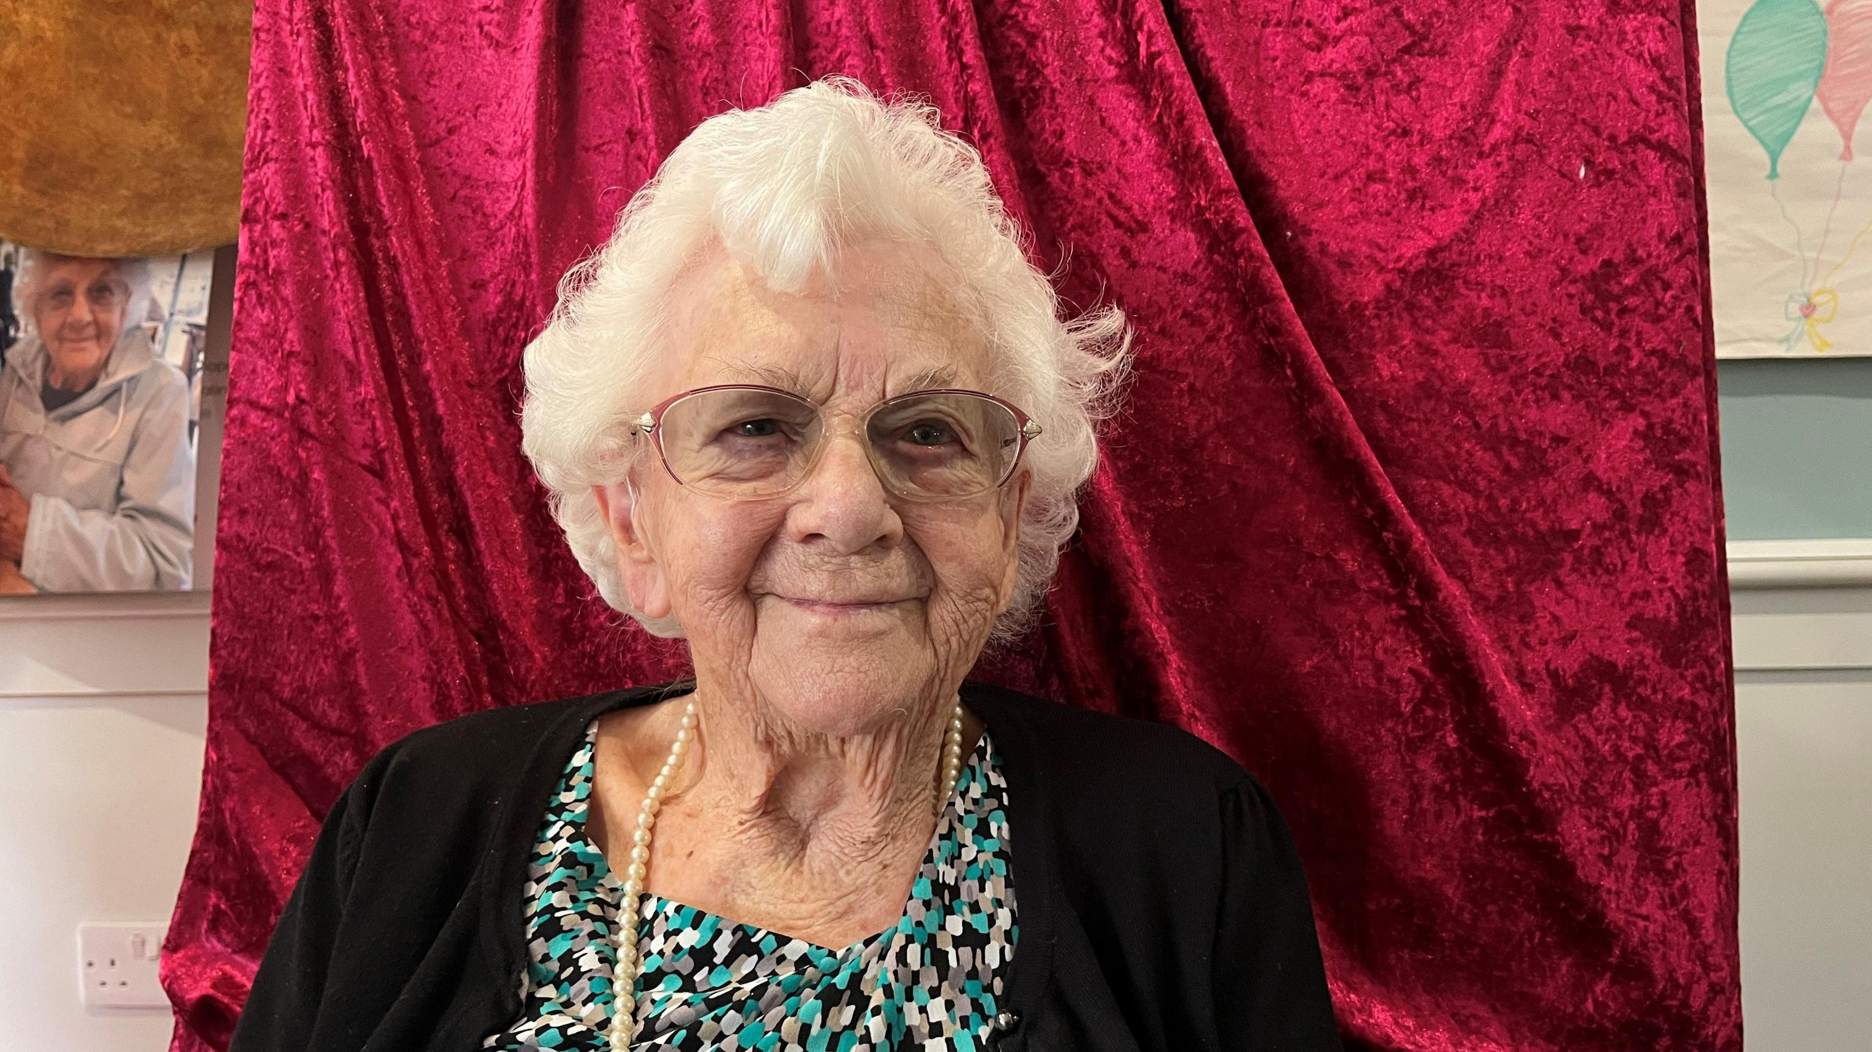
[[[900,245],[848,251],[837,292],[801,296],[736,262],[702,266],[672,307],[672,337],[651,404],[768,384],[863,417],[910,389],[988,389],[987,346]],[[947,696],[973,666],[1013,595],[1028,475],[975,498],[900,502],[854,434],[826,442],[777,498],[695,492],[646,447],[599,502],[631,601],[676,614],[704,681],[758,691],[811,730],[857,734],[908,700]]]

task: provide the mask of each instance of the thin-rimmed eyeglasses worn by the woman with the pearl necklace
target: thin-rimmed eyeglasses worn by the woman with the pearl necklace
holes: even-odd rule
[[[833,434],[818,404],[754,384],[683,391],[636,417],[663,466],[698,492],[753,500],[797,487]],[[906,500],[960,500],[1000,489],[1041,425],[981,391],[884,399],[848,427],[884,489]]]

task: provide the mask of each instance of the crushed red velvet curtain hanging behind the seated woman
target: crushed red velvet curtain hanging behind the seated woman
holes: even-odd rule
[[[519,354],[698,120],[827,73],[1140,333],[983,674],[1267,782],[1352,1048],[1739,1050],[1689,0],[260,0],[176,1046],[376,749],[680,670],[547,517]]]

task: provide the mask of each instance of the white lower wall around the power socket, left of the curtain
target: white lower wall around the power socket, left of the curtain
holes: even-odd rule
[[[202,775],[208,597],[0,601],[0,1052],[161,1052],[79,1001],[80,921],[167,923]]]

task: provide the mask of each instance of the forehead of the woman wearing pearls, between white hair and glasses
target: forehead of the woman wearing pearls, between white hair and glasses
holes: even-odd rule
[[[960,283],[915,245],[852,247],[831,275],[799,292],[771,288],[753,266],[719,255],[680,285],[668,326],[659,397],[768,384],[822,404],[869,404],[992,382],[992,356]]]

